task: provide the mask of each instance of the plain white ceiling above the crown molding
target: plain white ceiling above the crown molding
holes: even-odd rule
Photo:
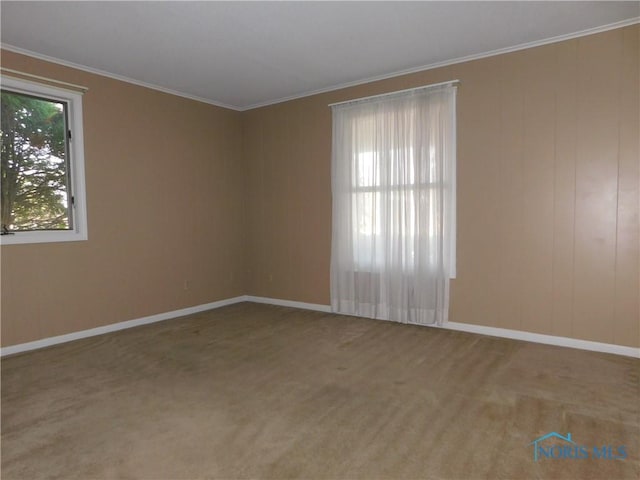
[[[640,2],[2,1],[0,14],[6,48],[246,110],[631,23]]]

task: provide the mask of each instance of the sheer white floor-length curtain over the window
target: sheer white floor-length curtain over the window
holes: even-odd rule
[[[452,84],[333,109],[333,311],[447,320],[455,276]]]

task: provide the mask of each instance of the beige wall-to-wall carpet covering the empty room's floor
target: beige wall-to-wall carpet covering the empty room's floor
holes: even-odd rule
[[[3,359],[2,478],[637,479],[639,373],[243,303]],[[534,462],[552,431],[628,456]]]

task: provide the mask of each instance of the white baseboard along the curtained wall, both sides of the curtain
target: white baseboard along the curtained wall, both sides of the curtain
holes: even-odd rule
[[[315,303],[292,302],[290,300],[278,300],[277,298],[252,297],[248,296],[247,301],[256,303],[267,303],[269,305],[280,305],[283,307],[296,307],[305,310],[317,310],[319,312],[331,312],[330,305],[319,305]],[[544,335],[541,333],[525,332],[522,330],[510,330],[507,328],[487,327],[484,325],[472,325],[469,323],[447,322],[442,326],[427,325],[432,328],[444,328],[445,330],[457,330],[460,332],[478,333],[491,337],[510,338],[525,342],[543,343],[546,345],[556,345],[559,347],[577,348],[579,350],[591,350],[594,352],[613,353],[626,357],[640,358],[640,348],[625,347],[611,343],[591,342],[589,340],[579,340],[577,338],[557,337],[555,335]]]

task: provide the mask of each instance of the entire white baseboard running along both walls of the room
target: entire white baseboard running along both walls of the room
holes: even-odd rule
[[[254,297],[252,295],[241,295],[239,297],[228,298],[203,305],[173,310],[171,312],[159,313],[148,317],[128,320],[126,322],[113,323],[102,327],[82,330],[79,332],[68,333],[56,337],[43,338],[34,342],[21,343],[19,345],[11,345],[9,347],[0,348],[0,356],[12,355],[15,353],[26,352],[38,348],[49,347],[59,343],[71,342],[81,338],[93,337],[104,333],[124,330],[126,328],[146,325],[148,323],[161,322],[172,318],[183,317],[193,313],[204,312],[205,310],[213,310],[215,308],[232,305],[240,302],[264,303],[268,305],[278,305],[281,307],[293,307],[303,310],[315,310],[318,312],[329,313],[331,306],[321,305],[318,303],[296,302],[293,300],[280,300],[277,298]],[[591,342],[589,340],[579,340],[577,338],[557,337],[554,335],[543,335],[540,333],[524,332],[521,330],[510,330],[506,328],[487,327],[484,325],[472,325],[469,323],[447,322],[441,327],[434,326],[432,328],[444,328],[446,330],[457,330],[461,332],[478,333],[480,335],[489,335],[492,337],[510,338],[513,340],[522,340],[525,342],[543,343],[546,345],[556,345],[559,347],[577,348],[580,350],[591,350],[594,352],[613,353],[615,355],[624,355],[627,357],[640,358],[640,348],[625,347],[623,345],[614,345],[610,343]]]

